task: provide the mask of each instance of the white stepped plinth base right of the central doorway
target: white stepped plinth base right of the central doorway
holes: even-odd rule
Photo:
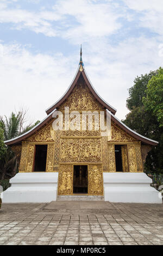
[[[122,203],[162,203],[161,193],[151,187],[145,173],[103,173],[104,199]]]

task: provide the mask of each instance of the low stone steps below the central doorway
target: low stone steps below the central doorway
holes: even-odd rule
[[[87,196],[87,195],[57,196],[57,201],[104,201],[104,196]]]

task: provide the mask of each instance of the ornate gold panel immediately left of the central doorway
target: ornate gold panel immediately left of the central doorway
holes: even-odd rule
[[[73,165],[59,166],[58,194],[73,194]]]

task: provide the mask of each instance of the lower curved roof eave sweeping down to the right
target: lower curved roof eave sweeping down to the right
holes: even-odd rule
[[[127,125],[123,124],[122,121],[120,121],[117,117],[115,117],[115,115],[113,115],[108,109],[106,109],[106,111],[108,111],[111,114],[112,120],[114,120],[117,125],[120,125],[120,127],[122,127],[122,129],[127,131],[129,133],[129,135],[131,135],[137,139],[140,139],[140,141],[142,141],[145,144],[157,145],[159,143],[157,141],[154,141],[153,139],[149,139],[149,138],[142,136],[139,133],[131,130]]]

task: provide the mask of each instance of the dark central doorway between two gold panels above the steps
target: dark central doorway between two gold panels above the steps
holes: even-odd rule
[[[87,166],[74,166],[73,193],[87,194]]]

